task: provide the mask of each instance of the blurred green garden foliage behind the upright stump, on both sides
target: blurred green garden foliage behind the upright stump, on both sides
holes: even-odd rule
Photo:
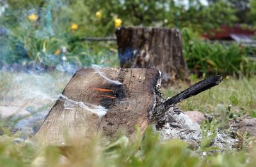
[[[124,26],[190,28],[195,34],[236,21],[232,3],[225,1],[214,1],[207,6],[198,0],[188,3],[167,0],[12,0],[8,3],[10,7],[0,17],[0,24],[8,30],[7,36],[0,36],[2,64],[40,61],[54,66],[61,62],[61,56],[67,56],[67,60],[75,65],[108,61],[108,65],[115,66],[118,64],[116,52],[109,51],[113,44],[98,45],[81,39],[113,35],[116,18],[121,18]],[[96,12],[100,12],[101,16],[97,17]],[[29,20],[31,14],[37,15],[38,19]],[[77,29],[72,29],[72,24],[77,24]],[[188,67],[192,70],[227,74],[234,71],[232,66],[246,72],[255,70],[255,63],[244,59],[246,52],[237,45],[224,47],[202,44],[198,40],[193,40],[191,44],[190,40],[183,38]],[[54,53],[61,47],[66,47],[68,52],[56,56]],[[227,58],[230,61],[223,61]]]

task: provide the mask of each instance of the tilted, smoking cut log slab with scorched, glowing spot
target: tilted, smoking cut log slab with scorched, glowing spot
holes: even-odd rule
[[[159,71],[153,68],[78,70],[49,111],[36,138],[45,143],[67,145],[65,136],[91,138],[99,131],[115,136],[123,129],[132,136],[135,125],[145,131],[148,113],[156,102],[155,88],[159,78]],[[97,112],[104,115],[103,107],[108,112],[99,118]]]

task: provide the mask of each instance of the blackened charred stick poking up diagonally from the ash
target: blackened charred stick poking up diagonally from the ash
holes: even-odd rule
[[[181,100],[188,99],[189,97],[195,96],[202,91],[211,89],[212,87],[220,84],[222,81],[221,76],[211,76],[207,77],[206,79],[193,84],[193,86],[189,87],[188,89],[178,93],[177,95],[173,96],[172,98],[166,100],[163,103],[157,104],[154,108],[154,112],[150,116],[152,120],[159,118],[160,116],[164,115],[166,111]]]

